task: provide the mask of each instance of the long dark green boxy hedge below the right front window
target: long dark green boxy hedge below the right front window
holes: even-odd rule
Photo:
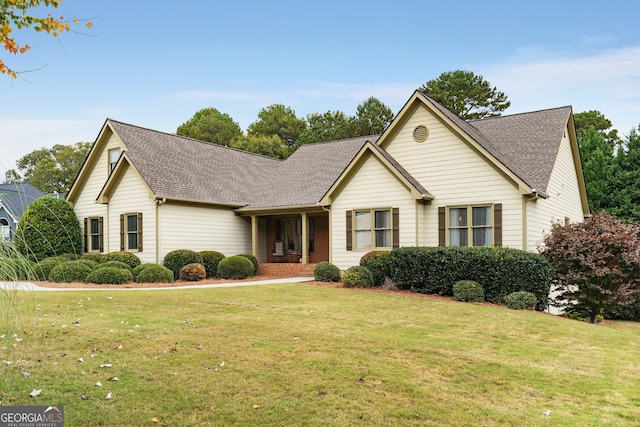
[[[533,293],[544,310],[556,273],[538,254],[502,247],[402,247],[389,253],[391,279],[400,289],[453,295],[459,280],[482,283],[485,299],[503,304],[512,292]]]

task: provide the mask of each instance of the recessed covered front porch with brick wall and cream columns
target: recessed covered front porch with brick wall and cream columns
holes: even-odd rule
[[[251,252],[260,263],[317,264],[330,259],[329,214],[324,210],[250,215]]]

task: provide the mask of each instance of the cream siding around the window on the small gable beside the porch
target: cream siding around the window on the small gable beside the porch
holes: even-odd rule
[[[358,265],[368,252],[355,247],[353,251],[346,250],[348,210],[399,208],[400,246],[415,245],[415,204],[410,191],[376,157],[369,156],[331,206],[331,262],[346,270]]]

